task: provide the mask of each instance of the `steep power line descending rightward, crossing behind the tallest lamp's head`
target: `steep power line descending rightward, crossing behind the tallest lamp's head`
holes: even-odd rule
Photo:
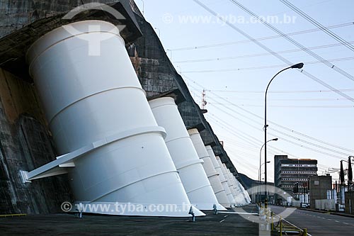
[[[288,65],[292,65],[294,63],[290,62],[289,60],[287,60],[285,57],[282,57],[280,55],[278,55],[278,53],[273,52],[273,50],[271,50],[269,47],[266,47],[265,45],[263,45],[262,43],[259,43],[257,40],[255,40],[254,38],[251,37],[251,35],[245,33],[243,30],[237,28],[236,26],[234,26],[232,23],[229,23],[229,21],[226,21],[224,18],[222,18],[219,14],[217,14],[215,11],[212,11],[212,9],[208,8],[207,6],[205,6],[205,4],[202,4],[200,1],[198,0],[193,0],[196,4],[198,4],[199,6],[201,6],[203,9],[205,9],[206,11],[208,11],[209,13],[211,13],[212,15],[214,15],[215,17],[219,18],[220,21],[224,22],[225,24],[227,24],[227,26],[231,27],[232,29],[236,30],[238,33],[240,33],[241,35],[244,35],[244,37],[248,38],[249,40],[251,40],[253,43],[256,43],[256,45],[258,45],[259,47],[262,47],[263,50],[270,52],[272,55],[274,55],[275,57],[277,57],[279,60],[282,60],[282,62],[285,62]],[[314,80],[315,82],[321,84],[322,86],[325,86],[327,89],[331,89],[331,91],[334,91],[336,94],[339,94],[340,96],[343,96],[344,98],[348,99],[349,101],[354,102],[354,99],[350,96],[348,96],[347,94],[344,94],[341,91],[338,91],[338,89],[334,88],[333,86],[326,84],[325,82],[321,81],[321,79],[318,79],[317,77],[315,77],[314,75],[310,74],[309,72],[305,72],[304,69],[302,69],[301,71],[302,74],[304,74],[305,76],[309,77],[310,79]]]

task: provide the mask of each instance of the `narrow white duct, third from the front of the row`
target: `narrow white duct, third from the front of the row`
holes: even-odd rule
[[[202,137],[200,137],[200,133],[197,129],[190,129],[188,130],[188,133],[193,142],[195,150],[198,153],[199,158],[204,161],[203,167],[205,169],[205,173],[207,174],[207,178],[209,179],[210,184],[212,185],[212,189],[214,190],[215,196],[217,196],[217,201],[219,201],[219,203],[228,202],[226,192],[222,187],[222,183],[219,179],[219,174],[215,170],[214,165],[212,164],[212,160],[210,159],[210,156],[207,153],[207,150],[205,149],[205,145],[204,142],[202,142]]]

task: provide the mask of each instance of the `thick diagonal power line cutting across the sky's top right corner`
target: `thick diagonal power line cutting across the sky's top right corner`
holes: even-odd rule
[[[288,6],[290,9],[292,9],[293,11],[295,11],[296,13],[298,13],[300,16],[302,16],[303,18],[305,18],[307,21],[309,21],[310,23],[312,23],[314,26],[316,26],[317,28],[319,28],[319,30],[322,30],[324,33],[326,33],[327,35],[331,36],[331,38],[333,38],[334,40],[338,41],[339,43],[341,43],[343,46],[347,47],[349,50],[351,50],[352,52],[354,52],[354,47],[350,44],[348,44],[348,42],[346,40],[344,40],[343,38],[341,38],[339,35],[337,35],[336,33],[333,33],[331,30],[329,30],[329,28],[326,28],[325,26],[321,25],[321,23],[319,23],[318,21],[314,20],[314,18],[312,18],[311,16],[307,15],[307,13],[304,13],[304,11],[298,9],[296,6],[294,6],[293,4],[291,4],[289,1],[287,0],[280,0],[283,4],[285,4],[286,6]]]

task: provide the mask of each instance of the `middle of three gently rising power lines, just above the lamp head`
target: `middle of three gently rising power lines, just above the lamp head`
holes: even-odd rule
[[[350,41],[350,44],[354,43],[354,41]],[[341,43],[335,43],[335,44],[329,44],[329,45],[319,45],[315,47],[308,47],[308,49],[316,50],[316,49],[321,49],[321,48],[327,48],[327,47],[337,47],[341,46]],[[282,54],[282,53],[290,53],[290,52],[301,52],[301,49],[292,49],[292,50],[283,50],[283,51],[278,51],[276,53]],[[215,57],[215,58],[207,58],[207,59],[196,59],[196,60],[180,60],[180,61],[174,61],[173,63],[193,63],[193,62],[214,62],[214,61],[222,61],[222,60],[236,60],[236,59],[243,59],[243,58],[249,58],[249,57],[263,57],[263,56],[269,56],[272,55],[268,52],[265,53],[257,53],[257,54],[251,54],[251,55],[241,55],[241,56],[236,56],[236,57]]]

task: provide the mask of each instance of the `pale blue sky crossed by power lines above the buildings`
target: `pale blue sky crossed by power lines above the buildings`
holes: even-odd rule
[[[267,140],[279,138],[267,145],[268,181],[274,178],[275,154],[317,159],[318,174],[338,169],[341,159],[354,155],[353,50],[280,0],[235,1],[278,33],[231,0],[199,1],[217,16],[193,0],[135,0],[140,11],[144,7],[144,17],[200,106],[205,89],[205,118],[224,141],[238,172],[258,179],[265,88],[288,66],[239,31],[293,64],[304,62],[303,71],[287,69],[275,77],[268,90]],[[290,2],[326,26],[334,37],[354,41],[354,1]],[[279,30],[287,36],[281,37]],[[309,55],[308,49],[314,54]],[[331,175],[333,181],[338,180],[336,170]]]

